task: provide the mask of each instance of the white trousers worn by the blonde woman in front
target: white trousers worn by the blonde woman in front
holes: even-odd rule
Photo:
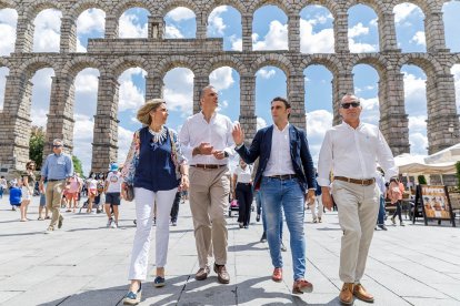
[[[156,266],[166,266],[169,242],[169,215],[176,192],[177,188],[156,193],[146,188],[134,188],[137,230],[129,268],[130,280],[144,280],[147,278],[154,203],[157,203]]]

